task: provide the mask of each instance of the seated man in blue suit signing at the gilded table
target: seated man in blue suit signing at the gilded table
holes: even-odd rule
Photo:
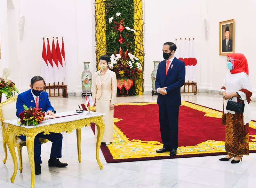
[[[34,76],[30,81],[29,90],[20,93],[16,102],[16,115],[19,117],[19,114],[24,110],[23,105],[31,106],[36,108],[42,108],[43,112],[46,112],[46,115],[53,115],[54,109],[49,101],[48,93],[44,90],[44,78],[41,76]],[[19,136],[21,140],[26,141],[26,136]],[[61,158],[61,146],[62,146],[62,134],[52,133],[49,135],[44,135],[39,133],[35,137],[34,142],[34,159],[35,159],[35,174],[41,174],[41,141],[39,138],[47,138],[52,142],[51,156],[48,161],[49,167],[66,167],[67,163],[62,163],[58,158]]]

